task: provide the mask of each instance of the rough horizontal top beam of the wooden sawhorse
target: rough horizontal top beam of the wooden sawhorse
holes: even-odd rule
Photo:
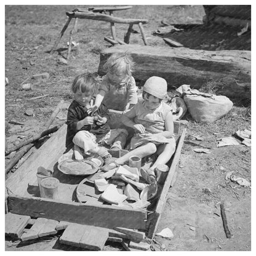
[[[104,22],[124,23],[124,24],[138,24],[148,23],[148,20],[138,18],[119,18],[106,14],[97,14],[94,12],[66,12],[70,18],[87,18],[89,20],[103,20]]]

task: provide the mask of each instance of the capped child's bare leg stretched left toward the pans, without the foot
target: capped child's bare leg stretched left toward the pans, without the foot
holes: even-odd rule
[[[143,146],[135,148],[135,150],[132,150],[129,153],[122,156],[121,158],[116,159],[116,163],[124,164],[125,162],[129,161],[130,156],[138,156],[140,158],[144,158],[145,156],[149,156],[150,154],[154,154],[155,152],[156,152],[156,145],[150,142]]]

